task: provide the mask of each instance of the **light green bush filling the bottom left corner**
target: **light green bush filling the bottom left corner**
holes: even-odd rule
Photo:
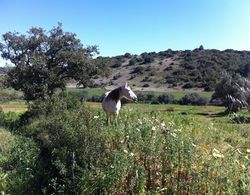
[[[39,148],[29,138],[14,136],[0,129],[1,194],[37,194]]]

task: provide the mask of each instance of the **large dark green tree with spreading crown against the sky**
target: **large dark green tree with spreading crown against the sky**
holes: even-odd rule
[[[84,47],[76,34],[64,32],[60,23],[50,31],[7,32],[0,52],[15,65],[8,72],[8,85],[22,90],[26,100],[52,95],[57,88],[64,89],[69,79],[86,87],[93,76],[105,72],[98,71],[92,59],[97,46]]]

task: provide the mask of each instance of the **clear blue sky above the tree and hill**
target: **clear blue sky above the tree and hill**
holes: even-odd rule
[[[58,22],[103,56],[250,50],[250,0],[0,0],[0,34]]]

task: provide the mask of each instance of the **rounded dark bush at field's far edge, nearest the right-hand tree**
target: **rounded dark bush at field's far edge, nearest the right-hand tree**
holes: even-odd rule
[[[179,103],[181,105],[207,105],[208,100],[207,98],[199,96],[197,93],[190,93],[185,96],[183,96],[180,100]]]

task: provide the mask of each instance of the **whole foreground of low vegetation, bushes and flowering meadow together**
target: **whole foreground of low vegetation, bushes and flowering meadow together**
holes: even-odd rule
[[[249,113],[138,104],[106,126],[99,108],[60,94],[1,124],[1,193],[250,193]]]

